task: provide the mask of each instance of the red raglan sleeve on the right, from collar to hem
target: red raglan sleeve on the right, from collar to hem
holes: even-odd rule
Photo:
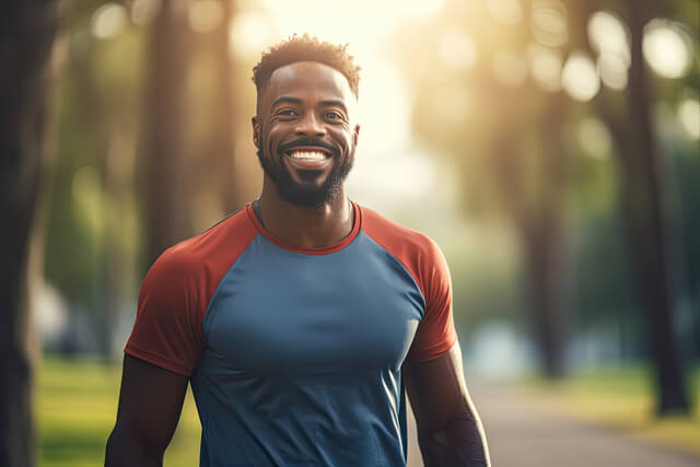
[[[376,212],[362,208],[362,230],[408,269],[425,301],[407,359],[424,362],[447,353],[457,341],[452,316],[452,282],[438,245]]]

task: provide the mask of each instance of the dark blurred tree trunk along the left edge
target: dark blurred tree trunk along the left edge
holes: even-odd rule
[[[31,362],[24,313],[26,259],[43,176],[48,65],[58,2],[12,0],[0,20],[0,465],[34,464]]]

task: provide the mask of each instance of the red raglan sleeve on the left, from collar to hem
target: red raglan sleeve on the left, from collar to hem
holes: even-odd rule
[[[202,322],[209,302],[257,234],[248,209],[249,205],[158,258],[141,285],[126,353],[174,373],[192,374],[207,346]]]

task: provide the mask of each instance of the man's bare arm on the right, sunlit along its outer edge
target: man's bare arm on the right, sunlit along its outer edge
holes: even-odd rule
[[[404,365],[425,467],[490,466],[479,416],[462,371],[459,343],[439,359]]]

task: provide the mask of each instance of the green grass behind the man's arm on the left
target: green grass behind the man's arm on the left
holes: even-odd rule
[[[114,428],[121,369],[92,362],[45,360],[36,374],[39,466],[104,464]],[[199,418],[187,393],[180,422],[165,453],[165,466],[199,463]]]

